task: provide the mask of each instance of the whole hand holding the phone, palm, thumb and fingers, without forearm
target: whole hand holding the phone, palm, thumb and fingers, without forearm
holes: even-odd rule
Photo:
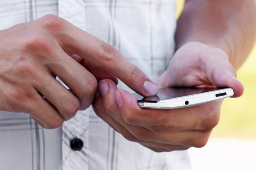
[[[181,47],[160,77],[159,85],[232,87],[241,96],[243,85],[227,55],[198,42]],[[126,139],[156,152],[203,147],[218,124],[222,101],[173,110],[142,109],[127,91],[118,90],[113,81],[99,82],[101,96],[93,102],[96,114]]]

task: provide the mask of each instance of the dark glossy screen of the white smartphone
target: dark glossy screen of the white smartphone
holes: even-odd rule
[[[152,102],[156,103],[159,100],[173,99],[182,96],[189,96],[192,94],[200,94],[209,91],[220,90],[224,88],[186,88],[186,87],[167,87],[160,88],[157,96],[143,97],[138,94],[134,96],[137,98],[138,102]]]

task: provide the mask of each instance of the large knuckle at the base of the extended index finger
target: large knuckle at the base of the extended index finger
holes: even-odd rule
[[[61,32],[64,30],[66,21],[56,15],[48,14],[41,18],[43,28],[50,32]]]

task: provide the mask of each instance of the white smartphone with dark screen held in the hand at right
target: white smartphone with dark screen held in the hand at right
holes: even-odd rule
[[[161,88],[157,96],[142,97],[138,94],[141,108],[177,109],[214,102],[234,95],[232,88]]]

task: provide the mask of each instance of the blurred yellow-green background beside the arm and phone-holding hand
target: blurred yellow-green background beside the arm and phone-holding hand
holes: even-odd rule
[[[177,17],[183,4],[184,0],[177,0]],[[244,95],[224,100],[221,120],[211,138],[256,138],[256,46],[237,75],[244,85]]]

